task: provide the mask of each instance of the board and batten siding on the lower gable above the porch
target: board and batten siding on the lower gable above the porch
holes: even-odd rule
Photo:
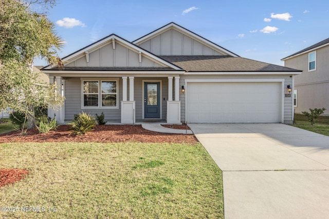
[[[126,48],[119,43],[112,43],[101,48],[89,51],[89,62],[86,54],[77,57],[76,60],[65,64],[65,67],[163,67],[142,54],[142,62],[139,62],[139,53]]]

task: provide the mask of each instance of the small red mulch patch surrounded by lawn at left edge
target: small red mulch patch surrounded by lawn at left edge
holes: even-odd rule
[[[20,181],[28,173],[23,169],[0,169],[0,187]]]

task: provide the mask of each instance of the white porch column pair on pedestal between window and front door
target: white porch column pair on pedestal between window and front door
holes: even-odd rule
[[[127,77],[122,77],[121,123],[135,124],[134,77],[129,77],[129,101],[127,101]]]

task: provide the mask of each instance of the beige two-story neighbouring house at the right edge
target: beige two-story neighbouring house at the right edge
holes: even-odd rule
[[[303,70],[294,77],[296,113],[309,108],[326,108],[329,115],[329,38],[283,59],[284,65]]]

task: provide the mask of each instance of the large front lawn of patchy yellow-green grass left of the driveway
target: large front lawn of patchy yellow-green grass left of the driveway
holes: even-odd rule
[[[13,143],[0,157],[30,171],[0,187],[0,207],[20,209],[2,218],[224,218],[222,172],[200,144]]]

